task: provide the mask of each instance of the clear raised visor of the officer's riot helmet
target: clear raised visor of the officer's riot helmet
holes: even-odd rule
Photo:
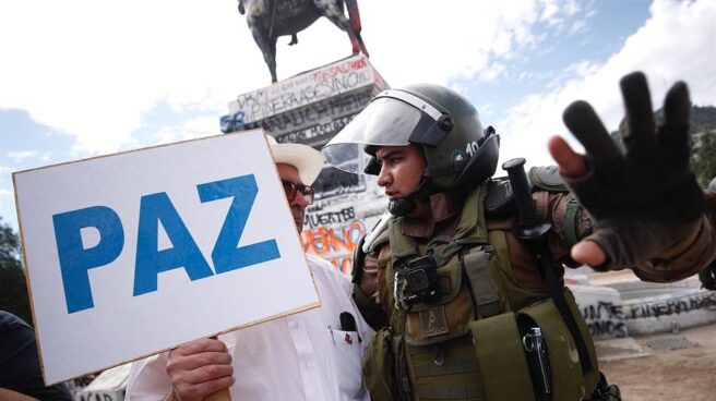
[[[393,98],[378,97],[329,142],[321,153],[332,166],[362,173],[370,159],[366,146],[405,146],[413,133],[435,120],[416,107]]]

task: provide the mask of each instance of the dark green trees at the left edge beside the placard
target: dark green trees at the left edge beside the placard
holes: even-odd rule
[[[33,324],[25,270],[20,262],[20,239],[0,218],[0,309]]]

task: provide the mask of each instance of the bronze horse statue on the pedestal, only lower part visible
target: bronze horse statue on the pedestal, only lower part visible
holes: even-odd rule
[[[239,0],[239,13],[247,14],[251,35],[263,53],[271,72],[271,82],[276,82],[276,39],[291,36],[289,45],[298,42],[296,34],[325,16],[348,34],[353,53],[368,56],[360,37],[360,14],[357,0],[345,0],[348,8],[344,14],[344,0]]]

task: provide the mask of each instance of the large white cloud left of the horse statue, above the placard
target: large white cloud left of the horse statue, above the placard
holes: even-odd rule
[[[157,99],[218,114],[250,50],[234,39],[239,22],[231,2],[13,2],[0,36],[22,40],[2,41],[0,108],[28,110],[85,153],[131,142]]]

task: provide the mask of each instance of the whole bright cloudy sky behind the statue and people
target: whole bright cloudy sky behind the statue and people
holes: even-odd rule
[[[608,129],[619,78],[646,73],[655,107],[677,81],[716,105],[716,1],[361,0],[370,62],[392,87],[450,86],[501,134],[501,161],[551,163],[564,108]],[[350,54],[327,20],[277,45],[285,80]],[[0,0],[0,217],[12,172],[218,134],[238,95],[271,83],[236,0]]]

